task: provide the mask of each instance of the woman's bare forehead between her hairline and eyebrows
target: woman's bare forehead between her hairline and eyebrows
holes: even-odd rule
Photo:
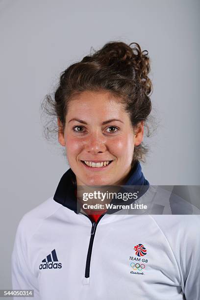
[[[89,118],[125,118],[124,105],[109,92],[84,91],[70,100],[66,119],[72,116]]]

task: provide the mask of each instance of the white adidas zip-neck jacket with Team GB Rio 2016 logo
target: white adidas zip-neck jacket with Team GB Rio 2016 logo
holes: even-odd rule
[[[200,216],[120,210],[95,224],[50,197],[18,226],[12,283],[35,300],[200,300]]]

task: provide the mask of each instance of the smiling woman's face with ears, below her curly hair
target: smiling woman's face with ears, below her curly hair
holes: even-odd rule
[[[122,185],[143,132],[143,123],[133,131],[123,104],[109,92],[85,91],[69,102],[64,134],[60,130],[58,139],[77,185]]]

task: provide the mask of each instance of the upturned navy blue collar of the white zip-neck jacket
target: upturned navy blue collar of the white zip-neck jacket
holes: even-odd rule
[[[137,161],[134,165],[134,167],[131,169],[130,174],[129,174],[129,178],[125,183],[125,186],[136,186],[136,189],[138,190],[138,187],[140,189],[140,194],[139,197],[141,197],[142,195],[144,195],[144,193],[146,193],[146,191],[149,188],[149,181],[147,179],[145,179],[145,176],[142,173],[142,168],[140,165],[140,162]],[[67,170],[67,172],[64,173],[64,175],[61,177],[57,189],[55,191],[54,197],[53,199],[62,204],[63,206],[74,210],[75,213],[79,213],[80,212],[80,207],[77,207],[77,200],[76,200],[76,196],[75,196],[75,190],[76,190],[76,179],[75,179],[75,174],[72,171],[72,169]],[[131,191],[132,192],[132,191]],[[138,198],[139,198],[138,197]],[[126,203],[122,203],[122,204],[131,204],[134,200],[130,199],[128,201],[126,201]],[[113,199],[111,201],[111,203],[116,203],[116,204],[120,204],[119,200]],[[119,209],[118,209],[119,210]],[[112,214],[118,210],[107,210],[106,213],[108,214]]]

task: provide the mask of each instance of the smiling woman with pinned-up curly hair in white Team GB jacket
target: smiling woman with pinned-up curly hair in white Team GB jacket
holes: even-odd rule
[[[34,290],[34,299],[200,299],[199,216],[91,209],[80,197],[94,186],[137,186],[137,199],[126,203],[150,199],[139,162],[147,152],[150,61],[132,45],[111,42],[85,56],[62,73],[54,99],[46,99],[70,169],[17,230],[13,288]]]

